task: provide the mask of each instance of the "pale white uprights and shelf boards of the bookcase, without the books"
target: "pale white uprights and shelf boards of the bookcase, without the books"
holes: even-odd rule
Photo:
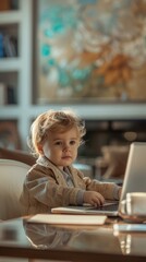
[[[3,0],[4,1],[4,0]],[[0,105],[0,121],[14,121],[21,135],[22,147],[26,147],[32,88],[32,0],[17,0],[17,10],[0,11],[0,28],[5,26],[17,32],[19,55],[0,58],[0,82],[5,85],[13,79],[16,103]],[[4,86],[5,87],[5,86]],[[26,115],[27,114],[27,115]]]

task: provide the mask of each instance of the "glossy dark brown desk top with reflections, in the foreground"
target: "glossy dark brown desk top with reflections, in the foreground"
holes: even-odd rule
[[[62,261],[145,261],[146,233],[115,235],[104,226],[53,226],[17,218],[0,223],[0,257]]]

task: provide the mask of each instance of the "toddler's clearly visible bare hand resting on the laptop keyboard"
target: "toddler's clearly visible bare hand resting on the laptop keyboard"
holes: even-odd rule
[[[99,206],[105,203],[104,196],[96,191],[85,191],[83,198],[84,203],[88,203],[94,206]]]

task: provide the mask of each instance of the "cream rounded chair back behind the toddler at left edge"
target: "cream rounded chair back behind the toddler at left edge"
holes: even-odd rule
[[[0,219],[23,215],[20,195],[29,168],[29,165],[22,162],[0,159]]]

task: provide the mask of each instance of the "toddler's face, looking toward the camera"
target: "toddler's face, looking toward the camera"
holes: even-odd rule
[[[71,165],[77,156],[80,136],[76,128],[65,132],[50,132],[42,145],[44,155],[60,169]]]

